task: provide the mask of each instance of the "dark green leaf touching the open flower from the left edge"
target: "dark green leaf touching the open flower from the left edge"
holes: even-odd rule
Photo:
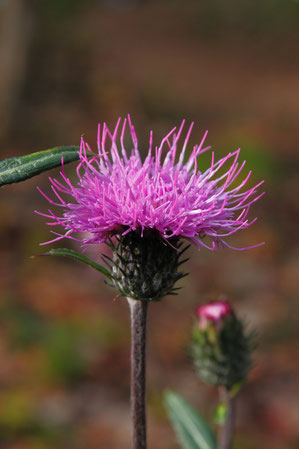
[[[87,152],[88,156],[92,156],[92,154]],[[25,156],[4,159],[0,162],[0,186],[25,181],[46,170],[59,167],[61,158],[63,158],[64,164],[78,160],[79,147],[56,147]]]

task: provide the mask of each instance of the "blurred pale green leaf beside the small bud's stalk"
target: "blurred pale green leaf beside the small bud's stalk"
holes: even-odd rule
[[[217,449],[215,436],[200,414],[180,395],[168,391],[164,404],[184,449]]]

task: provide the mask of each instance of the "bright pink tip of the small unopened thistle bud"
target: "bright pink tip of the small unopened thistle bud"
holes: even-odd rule
[[[203,329],[209,324],[216,324],[218,327],[224,317],[233,315],[233,309],[227,301],[211,301],[198,307],[196,314],[199,317],[200,328]]]

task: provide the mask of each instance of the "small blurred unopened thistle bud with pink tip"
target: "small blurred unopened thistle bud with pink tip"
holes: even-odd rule
[[[207,303],[196,312],[191,354],[197,373],[204,382],[231,390],[250,370],[251,335],[227,301]]]

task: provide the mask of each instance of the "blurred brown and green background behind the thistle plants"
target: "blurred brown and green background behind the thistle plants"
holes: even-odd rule
[[[144,149],[186,118],[193,144],[209,129],[217,156],[241,146],[251,182],[265,179],[259,220],[229,243],[266,245],[193,249],[181,293],[150,307],[149,447],[178,448],[166,387],[211,419],[217,393],[187,348],[195,307],[225,294],[259,336],[235,448],[298,448],[299,3],[1,0],[0,26],[1,158],[82,134],[95,148],[97,123],[130,112]],[[47,176],[1,190],[0,448],[129,449],[125,300],[83,265],[30,259],[50,235],[33,213]]]

